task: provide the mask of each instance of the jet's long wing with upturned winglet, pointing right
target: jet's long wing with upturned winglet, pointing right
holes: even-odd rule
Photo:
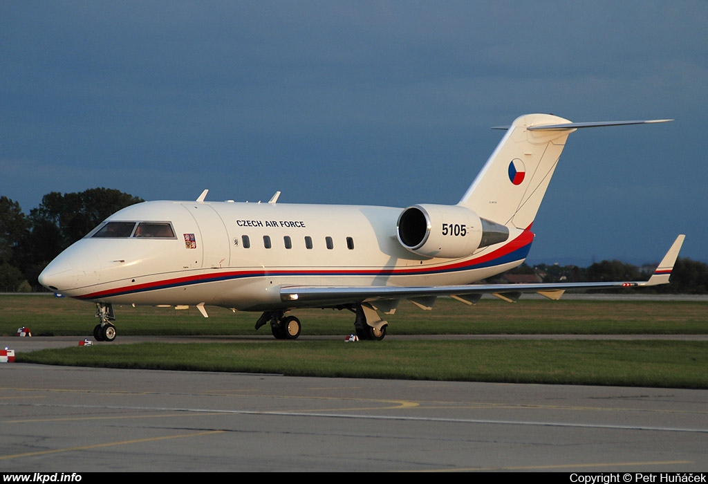
[[[463,284],[458,286],[285,286],[280,288],[280,298],[283,302],[292,301],[297,306],[330,306],[348,304],[353,301],[370,302],[384,300],[398,301],[410,299],[422,309],[432,308],[438,296],[453,298],[474,304],[482,294],[493,294],[507,301],[516,301],[521,294],[538,293],[549,299],[560,299],[567,289],[608,289],[619,287],[643,287],[667,284],[678,253],[685,236],[676,238],[671,248],[656,267],[648,281],[631,282],[566,282],[549,284]],[[376,304],[374,304],[376,306]],[[386,305],[383,305],[384,309]],[[392,306],[393,308],[395,306]]]

